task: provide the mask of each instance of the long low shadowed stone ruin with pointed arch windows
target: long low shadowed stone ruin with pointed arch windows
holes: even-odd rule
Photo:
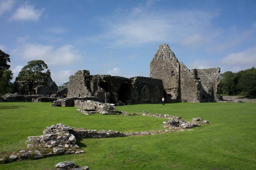
[[[141,100],[142,89],[146,85],[150,92],[147,100]],[[156,90],[159,93],[157,95],[158,99],[154,98]],[[88,70],[79,70],[74,76],[70,76],[67,97],[94,97],[97,99],[94,101],[114,103],[118,106],[123,104],[160,103],[162,95],[163,82],[159,79],[90,75]]]

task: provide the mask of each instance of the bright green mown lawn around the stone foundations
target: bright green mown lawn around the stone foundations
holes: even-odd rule
[[[87,129],[122,132],[163,129],[164,119],[148,116],[83,115],[75,107],[51,107],[50,103],[0,103],[0,152],[26,148],[28,136],[42,135],[46,126],[63,123]],[[82,154],[63,155],[0,165],[0,169],[53,169],[63,161],[75,161],[90,169],[256,169],[255,103],[172,103],[117,107],[138,113],[176,115],[191,121],[212,122],[193,131],[141,137],[81,139]]]

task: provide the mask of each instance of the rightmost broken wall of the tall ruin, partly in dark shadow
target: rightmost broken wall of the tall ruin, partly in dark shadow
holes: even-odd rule
[[[196,69],[202,84],[201,102],[216,102],[220,82],[220,68]]]

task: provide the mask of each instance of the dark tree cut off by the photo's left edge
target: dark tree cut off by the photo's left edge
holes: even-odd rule
[[[13,84],[10,82],[13,74],[7,62],[11,62],[10,55],[0,50],[0,94],[13,91]]]

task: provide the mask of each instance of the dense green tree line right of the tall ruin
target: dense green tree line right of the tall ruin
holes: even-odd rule
[[[233,73],[226,71],[220,74],[218,94],[250,95],[256,97],[256,68]]]

